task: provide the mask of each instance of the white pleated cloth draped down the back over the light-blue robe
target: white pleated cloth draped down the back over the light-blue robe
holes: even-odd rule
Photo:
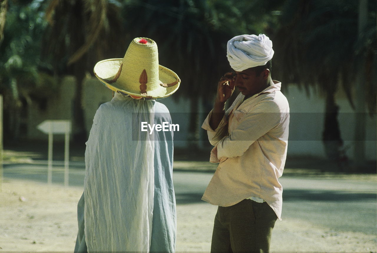
[[[154,194],[154,101],[120,94],[98,109],[86,142],[84,222],[88,252],[149,252]]]

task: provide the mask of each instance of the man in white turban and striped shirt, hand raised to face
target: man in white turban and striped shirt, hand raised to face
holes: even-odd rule
[[[219,206],[211,252],[268,252],[280,219],[289,105],[281,83],[271,79],[273,54],[264,34],[235,36],[227,44],[234,72],[221,77],[202,125],[215,146],[210,162],[219,163],[202,197]],[[235,86],[240,94],[225,112]]]

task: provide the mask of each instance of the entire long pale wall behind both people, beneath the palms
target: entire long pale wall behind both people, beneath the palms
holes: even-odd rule
[[[185,85],[182,83],[181,85]],[[36,126],[44,120],[66,119],[72,117],[72,106],[74,98],[74,79],[67,76],[61,83],[58,95],[48,101],[46,111],[40,111],[37,105],[29,107],[28,112],[28,138],[46,139],[47,136],[36,129]],[[299,89],[296,85],[288,85],[283,90],[290,103],[290,141],[288,143],[288,156],[314,156],[325,157],[322,144],[322,132],[324,125],[325,100],[323,96],[313,88],[307,92]],[[178,91],[179,92],[179,91]],[[92,127],[93,117],[101,103],[110,101],[112,92],[101,85],[96,78],[90,77],[84,83],[83,105],[86,129],[89,133]],[[189,144],[189,118],[190,101],[181,97],[176,101],[176,94],[158,100],[167,106],[172,114],[173,124],[179,123],[180,131],[175,133],[175,147],[187,147]],[[213,98],[208,98],[205,103],[200,102],[199,114],[201,120],[196,126],[200,129],[203,117],[210,110]],[[336,102],[339,105],[339,126],[344,145],[348,147],[346,154],[352,158],[354,153],[353,136],[355,127],[358,126],[355,120],[353,109],[342,92],[336,94]],[[206,104],[207,106],[202,106]],[[366,120],[366,159],[375,160],[376,148],[376,117],[367,117]],[[205,132],[201,131],[201,139],[205,140]],[[57,136],[58,137],[58,136]],[[55,138],[55,137],[54,137]],[[178,140],[177,140],[178,139]],[[208,145],[207,141],[199,141],[199,147]]]

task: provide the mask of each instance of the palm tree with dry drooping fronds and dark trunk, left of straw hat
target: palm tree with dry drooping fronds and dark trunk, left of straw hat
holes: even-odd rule
[[[75,76],[74,140],[84,142],[83,80],[98,60],[124,53],[120,5],[106,0],[52,0],[46,18],[44,41],[49,47],[44,58],[52,63],[55,75]]]

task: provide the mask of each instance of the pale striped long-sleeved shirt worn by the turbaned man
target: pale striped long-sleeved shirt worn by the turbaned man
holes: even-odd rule
[[[218,163],[202,200],[231,206],[245,198],[264,199],[281,220],[282,176],[287,156],[289,105],[281,83],[247,98],[241,93],[225,112],[217,129],[202,128],[215,147],[210,162]]]

